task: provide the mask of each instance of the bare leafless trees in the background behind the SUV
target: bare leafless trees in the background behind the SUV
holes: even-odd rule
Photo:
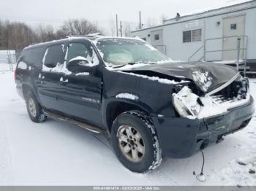
[[[86,19],[66,20],[58,30],[50,25],[31,28],[26,23],[0,20],[0,50],[22,50],[30,44],[97,32],[102,32],[97,23]]]

